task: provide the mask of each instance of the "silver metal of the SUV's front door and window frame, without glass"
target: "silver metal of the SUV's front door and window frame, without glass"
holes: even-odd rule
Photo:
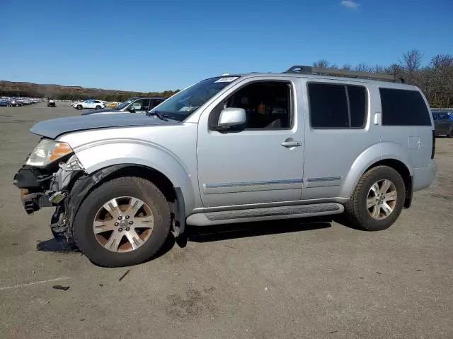
[[[203,206],[232,206],[247,202],[300,200],[304,164],[304,112],[299,107],[299,81],[287,78],[292,85],[294,126],[289,130],[209,131],[209,115],[219,102],[242,86],[273,77],[248,78],[212,101],[200,117],[198,130],[198,179]],[[285,148],[282,142],[291,138],[302,145]],[[244,150],[246,150],[244,152]],[[253,154],[253,156],[251,156]],[[270,157],[271,155],[271,157]]]

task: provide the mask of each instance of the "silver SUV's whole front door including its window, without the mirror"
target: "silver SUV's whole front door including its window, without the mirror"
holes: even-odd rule
[[[238,83],[202,113],[197,137],[203,206],[300,200],[304,119],[292,81],[253,78]],[[246,109],[246,126],[216,131],[226,107]]]

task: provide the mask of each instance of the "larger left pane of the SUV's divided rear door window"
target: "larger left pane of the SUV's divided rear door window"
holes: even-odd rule
[[[348,101],[343,85],[309,83],[311,126],[314,128],[348,128]]]

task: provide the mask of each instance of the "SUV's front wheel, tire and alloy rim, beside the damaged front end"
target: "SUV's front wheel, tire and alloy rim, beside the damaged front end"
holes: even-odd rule
[[[120,177],[91,192],[74,218],[74,240],[93,263],[132,266],[154,256],[168,237],[168,202],[145,179]]]

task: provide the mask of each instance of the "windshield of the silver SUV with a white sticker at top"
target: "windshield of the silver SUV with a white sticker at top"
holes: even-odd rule
[[[176,93],[173,97],[168,98],[160,105],[151,109],[152,112],[159,112],[165,117],[173,120],[183,121],[195,110],[203,105],[211,97],[219,93],[220,90],[235,81],[238,76],[210,78],[195,85],[191,85],[184,90]]]

